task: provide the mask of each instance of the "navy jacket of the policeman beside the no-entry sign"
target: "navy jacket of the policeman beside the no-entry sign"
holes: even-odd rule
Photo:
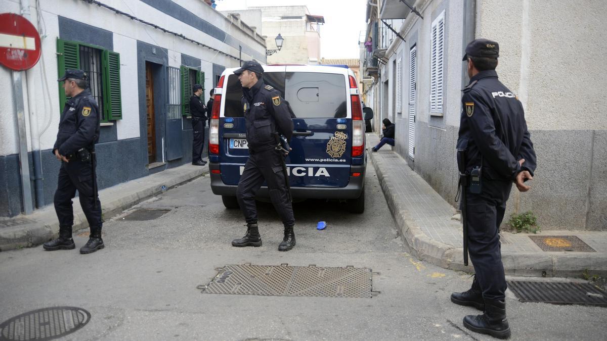
[[[59,154],[64,156],[75,154],[81,148],[94,149],[99,140],[101,118],[97,102],[89,89],[67,100],[59,120],[53,154],[55,149],[59,149]]]

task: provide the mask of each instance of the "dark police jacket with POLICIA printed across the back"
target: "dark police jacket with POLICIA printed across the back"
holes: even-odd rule
[[[482,163],[482,176],[492,180],[514,180],[522,170],[533,175],[537,160],[523,105],[497,72],[477,73],[463,92],[457,149],[465,150],[466,172]]]

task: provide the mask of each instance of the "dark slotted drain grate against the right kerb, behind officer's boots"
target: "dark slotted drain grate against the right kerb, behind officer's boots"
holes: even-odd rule
[[[607,306],[607,293],[588,283],[508,281],[521,302]]]

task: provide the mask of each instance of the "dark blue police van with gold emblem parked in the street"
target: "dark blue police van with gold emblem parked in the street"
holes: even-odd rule
[[[226,208],[238,207],[236,188],[249,156],[237,69],[226,69],[219,79],[209,124],[211,189]],[[295,116],[285,159],[293,200],[345,200],[350,212],[364,212],[365,121],[352,70],[317,65],[263,70],[265,84],[279,90]],[[269,198],[268,188],[262,186],[257,197]]]

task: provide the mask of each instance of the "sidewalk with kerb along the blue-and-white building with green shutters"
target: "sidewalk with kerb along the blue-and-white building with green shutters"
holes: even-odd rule
[[[170,170],[171,169],[167,169],[164,170],[164,172]],[[139,187],[136,192],[126,193],[112,200],[102,200],[101,217],[103,221],[106,221],[109,218],[120,214],[125,209],[129,209],[132,206],[141,203],[141,201],[148,200],[155,195],[168,191],[172,187],[192,181],[195,178],[208,174],[208,172],[208,166],[205,166],[198,169],[187,170],[186,172],[183,172],[183,174],[176,174],[173,177],[163,177],[162,172],[160,172],[157,174],[147,175],[146,177],[134,179],[132,181],[141,182],[142,186]],[[161,181],[159,181],[160,183],[152,186],[145,186],[144,183],[155,183],[155,179],[151,178],[154,177],[154,175],[159,175],[158,177],[161,177]],[[117,191],[117,186],[128,184],[129,182],[107,187],[106,189],[103,189],[103,191]],[[57,221],[54,209],[50,208],[49,206],[52,205],[47,205],[45,208],[41,209],[44,211],[35,212],[31,216],[19,216],[29,220],[37,220],[37,223],[35,222],[29,225],[0,229],[0,251],[8,251],[18,248],[30,248],[41,245],[42,243],[52,240],[53,238],[57,238],[59,236],[59,221]],[[52,220],[50,217],[51,215]],[[52,221],[52,223],[45,224],[41,222],[45,220]],[[89,223],[87,222],[84,212],[79,204],[74,204],[74,220],[72,228],[73,232],[89,228]]]

